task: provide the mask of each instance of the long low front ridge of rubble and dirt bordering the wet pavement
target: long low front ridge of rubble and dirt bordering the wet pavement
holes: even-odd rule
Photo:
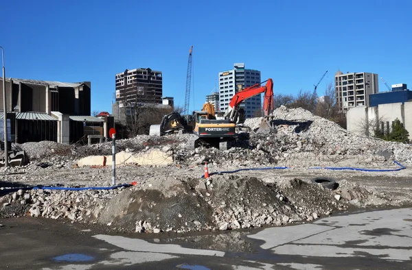
[[[167,182],[153,178],[111,190],[21,189],[0,197],[0,218],[29,214],[126,231],[191,232],[303,223],[350,205],[361,206],[370,198],[375,204],[386,202],[365,188],[342,184],[330,191],[298,179],[268,183],[256,177],[216,175]]]

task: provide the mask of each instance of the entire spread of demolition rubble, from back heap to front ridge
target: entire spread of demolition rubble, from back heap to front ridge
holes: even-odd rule
[[[280,226],[369,206],[404,201],[374,188],[337,179],[336,189],[310,182],[311,167],[393,167],[412,162],[410,145],[358,136],[306,110],[278,108],[274,129],[258,132],[262,118],[247,119],[227,150],[186,147],[194,134],[117,140],[117,183],[110,190],[62,191],[33,186],[110,186],[112,143],[14,145],[27,164],[0,169],[0,219],[29,215],[143,232],[225,231]],[[214,173],[201,178],[205,162]],[[161,166],[160,166],[161,165]],[[287,167],[301,177],[236,169]],[[323,172],[324,173],[324,172]],[[338,174],[335,174],[335,176]],[[338,175],[339,176],[339,175]],[[8,192],[8,188],[21,187]]]

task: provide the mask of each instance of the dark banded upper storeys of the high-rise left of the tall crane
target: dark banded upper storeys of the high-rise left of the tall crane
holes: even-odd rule
[[[132,69],[116,74],[116,101],[162,103],[162,73]]]

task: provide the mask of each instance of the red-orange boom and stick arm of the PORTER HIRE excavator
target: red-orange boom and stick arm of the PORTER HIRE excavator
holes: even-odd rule
[[[263,99],[263,110],[264,115],[268,116],[273,111],[273,80],[268,79],[266,82],[266,86],[260,86],[259,84],[255,84],[251,87],[245,88],[244,90],[236,93],[229,103],[229,107],[225,112],[225,118],[229,119],[230,121],[235,121],[240,103],[245,99],[249,99],[249,97],[253,97],[255,95],[259,95],[264,93]]]

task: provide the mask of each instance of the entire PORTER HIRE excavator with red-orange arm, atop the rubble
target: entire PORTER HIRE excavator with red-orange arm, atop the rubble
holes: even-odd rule
[[[267,123],[269,114],[273,112],[273,80],[268,79],[265,86],[255,84],[236,93],[225,112],[225,119],[216,119],[211,108],[213,106],[203,106],[203,110],[193,112],[193,133],[196,137],[189,140],[187,146],[194,149],[200,143],[207,143],[219,149],[228,149],[236,140],[236,127],[244,122],[244,114],[240,103],[249,97],[264,93],[263,110],[264,118],[260,126],[260,132],[271,129]]]

